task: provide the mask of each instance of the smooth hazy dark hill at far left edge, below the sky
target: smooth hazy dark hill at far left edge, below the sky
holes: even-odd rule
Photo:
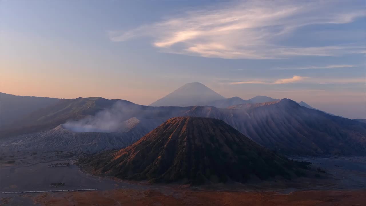
[[[16,96],[0,92],[0,129],[5,128],[12,122],[33,111],[48,107],[58,101],[60,101],[60,99],[36,96]]]

